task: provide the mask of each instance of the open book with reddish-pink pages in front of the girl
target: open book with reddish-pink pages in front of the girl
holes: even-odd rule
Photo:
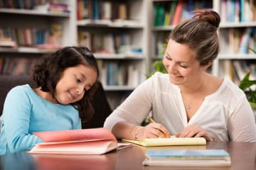
[[[132,146],[118,143],[114,135],[105,128],[58,130],[33,134],[44,142],[37,144],[28,153],[105,154],[114,149]]]

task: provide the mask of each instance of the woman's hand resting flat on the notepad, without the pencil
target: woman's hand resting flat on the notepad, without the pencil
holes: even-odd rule
[[[201,128],[200,125],[189,125],[184,128],[176,137],[204,137],[206,140],[215,141],[213,137],[208,135],[208,132]]]

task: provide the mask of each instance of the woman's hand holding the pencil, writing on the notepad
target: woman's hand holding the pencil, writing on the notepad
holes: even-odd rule
[[[169,131],[159,123],[149,123],[149,125],[139,128],[140,129],[137,129],[138,140],[143,140],[144,138],[170,137]]]

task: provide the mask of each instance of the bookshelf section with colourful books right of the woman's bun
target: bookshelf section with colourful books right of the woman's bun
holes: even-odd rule
[[[228,7],[229,6],[229,7]],[[256,4],[251,0],[214,1],[213,8],[220,13],[220,55],[215,60],[213,74],[239,84],[247,72],[256,79]]]

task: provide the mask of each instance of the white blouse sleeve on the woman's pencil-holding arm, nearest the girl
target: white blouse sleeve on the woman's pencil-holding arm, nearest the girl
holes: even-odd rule
[[[140,125],[152,108],[153,80],[151,77],[134,89],[132,94],[107,117],[104,127],[112,131],[114,125],[121,121]]]

